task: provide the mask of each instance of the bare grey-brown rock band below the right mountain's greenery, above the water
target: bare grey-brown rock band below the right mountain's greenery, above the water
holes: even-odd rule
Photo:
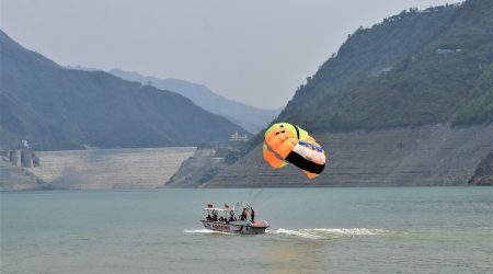
[[[308,181],[289,164],[273,170],[259,146],[202,187],[463,185],[493,149],[493,124],[319,133],[329,163]]]

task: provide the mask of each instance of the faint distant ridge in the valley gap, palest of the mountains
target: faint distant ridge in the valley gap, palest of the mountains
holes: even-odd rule
[[[121,69],[112,69],[108,72],[125,80],[177,92],[200,107],[204,107],[204,110],[221,115],[253,134],[267,126],[280,112],[280,110],[261,110],[245,105],[220,96],[203,84],[184,80],[173,78],[160,79]]]

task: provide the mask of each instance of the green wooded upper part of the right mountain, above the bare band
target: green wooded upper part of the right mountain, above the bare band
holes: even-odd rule
[[[311,130],[493,121],[493,1],[410,9],[359,28],[282,112]]]

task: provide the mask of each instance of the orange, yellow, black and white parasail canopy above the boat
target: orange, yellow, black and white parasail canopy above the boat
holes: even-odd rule
[[[264,159],[274,169],[290,162],[303,170],[309,179],[322,173],[325,168],[325,152],[302,128],[278,123],[265,132]]]

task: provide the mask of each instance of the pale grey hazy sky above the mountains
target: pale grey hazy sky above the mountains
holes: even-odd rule
[[[264,109],[359,25],[458,0],[0,0],[1,28],[60,65],[203,83]]]

